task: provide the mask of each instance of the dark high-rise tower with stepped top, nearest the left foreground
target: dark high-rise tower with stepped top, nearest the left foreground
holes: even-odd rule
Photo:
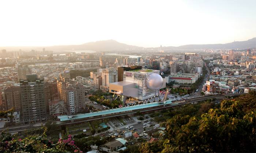
[[[38,79],[36,74],[27,75],[26,80],[20,79],[20,100],[24,123],[47,118],[44,87],[44,79]]]

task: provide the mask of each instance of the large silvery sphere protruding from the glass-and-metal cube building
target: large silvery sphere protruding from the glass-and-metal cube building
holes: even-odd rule
[[[160,89],[163,85],[163,78],[157,73],[150,73],[147,77],[146,86],[151,90]]]

